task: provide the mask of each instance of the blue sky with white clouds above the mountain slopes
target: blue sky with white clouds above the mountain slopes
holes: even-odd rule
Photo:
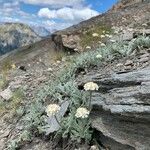
[[[107,11],[117,0],[0,0],[0,22],[59,30]]]

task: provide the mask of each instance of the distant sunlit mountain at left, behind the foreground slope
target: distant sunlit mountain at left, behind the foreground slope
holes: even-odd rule
[[[41,40],[29,26],[20,23],[0,25],[0,55]]]

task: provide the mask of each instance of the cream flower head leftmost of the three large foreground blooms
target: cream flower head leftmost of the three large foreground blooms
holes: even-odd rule
[[[46,108],[46,113],[48,116],[54,116],[60,111],[60,106],[57,104],[50,104]]]

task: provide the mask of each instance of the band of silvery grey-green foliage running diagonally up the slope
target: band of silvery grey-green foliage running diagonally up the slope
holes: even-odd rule
[[[96,137],[93,137],[95,133],[89,117],[85,119],[75,117],[78,108],[87,108],[89,111],[91,109],[91,106],[89,106],[90,91],[79,88],[77,77],[82,71],[84,72],[89,68],[99,68],[104,61],[109,63],[113,60],[130,56],[137,52],[137,48],[141,52],[149,49],[150,38],[139,37],[127,43],[107,44],[105,47],[100,47],[71,58],[67,62],[68,65],[60,70],[55,81],[49,81],[48,84],[37,91],[38,94],[35,96],[34,102],[27,108],[28,113],[23,117],[25,121],[24,131],[17,139],[10,141],[9,149],[17,149],[22,144],[32,141],[34,136],[48,136],[49,134],[51,136],[55,135],[54,137],[52,136],[54,143],[56,137],[60,141],[62,139],[59,137],[66,139],[69,144],[64,143],[67,144],[64,146],[68,147],[66,148],[68,150],[81,146],[84,143],[93,143],[99,149],[103,148],[96,141]],[[69,105],[65,105],[65,102],[68,102]],[[62,106],[63,103],[64,106]],[[65,112],[63,112],[65,115],[62,115],[61,118],[58,117],[60,125],[58,129],[55,126],[51,126],[51,123],[55,121],[48,121],[50,118],[47,116],[45,109],[49,104],[58,104],[62,107],[62,111],[65,109]],[[57,126],[57,123],[54,124]],[[55,148],[53,147],[53,149]]]

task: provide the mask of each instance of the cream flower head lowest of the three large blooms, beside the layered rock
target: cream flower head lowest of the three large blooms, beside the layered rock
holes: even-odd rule
[[[90,111],[88,111],[84,107],[80,107],[77,109],[75,116],[77,118],[88,118],[89,114],[90,114]]]

